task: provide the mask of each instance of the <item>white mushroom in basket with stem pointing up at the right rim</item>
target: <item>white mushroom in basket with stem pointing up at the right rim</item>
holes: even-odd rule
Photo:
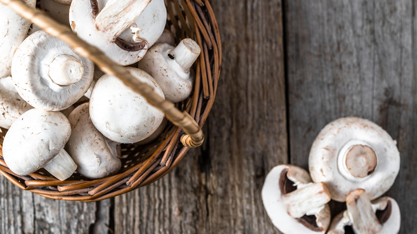
[[[166,100],[180,102],[193,91],[194,75],[190,68],[200,52],[200,46],[190,38],[182,40],[177,47],[156,44],[139,61],[138,67],[161,85]]]

